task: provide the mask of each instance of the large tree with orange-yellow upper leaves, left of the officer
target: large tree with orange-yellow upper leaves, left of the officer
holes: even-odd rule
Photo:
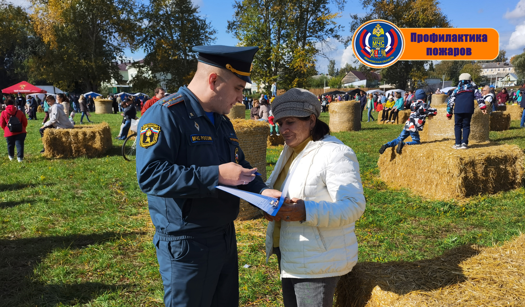
[[[33,0],[31,22],[45,43],[28,61],[30,79],[64,90],[97,91],[121,80],[116,65],[140,36],[132,0]]]

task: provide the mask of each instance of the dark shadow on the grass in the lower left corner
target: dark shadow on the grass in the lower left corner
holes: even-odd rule
[[[53,288],[53,286],[50,285],[40,285],[31,278],[35,267],[54,249],[82,249],[91,244],[120,240],[121,237],[125,238],[132,235],[132,233],[104,232],[0,240],[0,259],[2,259],[2,261],[0,261],[0,302],[17,302],[16,304],[13,303],[13,305],[20,305],[20,301],[32,296],[24,295],[25,289],[33,289],[33,291],[35,291],[35,287],[47,289],[47,292],[41,293],[42,295],[45,293],[46,295],[56,297],[59,297],[60,293],[53,293],[51,290],[56,288],[61,289],[60,291],[66,291],[67,288],[60,288],[63,285],[57,285],[57,287]],[[28,286],[27,283],[31,285]],[[90,283],[86,283],[82,286],[86,295],[88,295],[90,291],[92,292],[94,289],[93,286],[95,286],[89,284]],[[95,286],[95,288],[97,288],[97,286]],[[107,286],[104,285],[102,288],[107,289]],[[44,290],[45,289],[42,289],[42,291]],[[70,292],[71,291],[68,290],[64,293]],[[79,298],[78,295],[76,297]],[[5,306],[5,304],[3,303],[2,306]]]

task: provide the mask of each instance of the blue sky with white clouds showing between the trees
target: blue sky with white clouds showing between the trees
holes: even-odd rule
[[[11,0],[14,3],[26,3],[25,0]],[[148,0],[142,0],[148,1]],[[448,16],[454,27],[460,28],[495,28],[500,35],[500,48],[507,50],[507,56],[520,54],[525,47],[525,0],[499,0],[499,1],[440,1],[442,11]],[[215,44],[231,45],[237,44],[237,39],[226,32],[227,21],[232,19],[234,9],[232,0],[193,0],[199,6],[202,16],[205,16],[212,26],[217,30]],[[337,9],[332,5],[333,12]],[[349,32],[350,14],[363,14],[359,0],[347,0],[345,9],[341,12],[338,22],[345,26],[342,35],[351,35]],[[512,38],[512,39],[511,39]],[[511,39],[511,40],[510,40]],[[509,41],[510,40],[510,41]],[[350,48],[338,42],[333,43],[332,50],[326,50],[327,55],[335,59],[335,66],[344,66],[346,62],[352,63],[353,54]],[[127,56],[133,59],[141,59],[144,53],[141,51],[131,53],[127,50]],[[327,72],[328,60],[319,58],[317,62],[320,73]]]

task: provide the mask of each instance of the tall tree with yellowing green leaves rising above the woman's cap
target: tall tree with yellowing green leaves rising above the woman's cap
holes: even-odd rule
[[[267,91],[277,81],[280,89],[306,87],[317,74],[316,46],[341,39],[330,3],[342,10],[343,0],[236,0],[228,31],[241,46],[259,46],[251,79]]]

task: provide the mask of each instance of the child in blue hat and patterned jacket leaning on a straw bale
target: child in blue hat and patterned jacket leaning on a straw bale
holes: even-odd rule
[[[423,130],[423,126],[425,125],[425,117],[428,116],[428,119],[431,119],[433,116],[436,116],[437,109],[431,108],[425,102],[426,94],[424,90],[416,90],[415,96],[416,99],[414,99],[412,101],[412,104],[410,105],[410,117],[406,121],[406,124],[403,127],[403,131],[401,131],[401,134],[396,139],[393,139],[390,142],[387,142],[386,144],[383,144],[381,146],[381,148],[379,149],[379,153],[381,155],[383,154],[383,152],[385,152],[387,148],[394,147],[396,145],[397,154],[401,154],[403,146],[405,146],[405,143],[403,141],[408,136],[412,137],[412,141],[406,142],[406,145],[421,144],[421,142],[419,141],[419,131]]]

